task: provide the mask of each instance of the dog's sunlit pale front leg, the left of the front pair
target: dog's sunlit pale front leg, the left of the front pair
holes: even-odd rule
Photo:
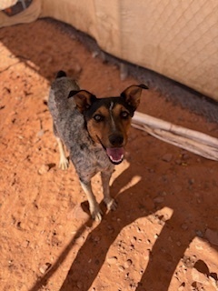
[[[87,196],[88,203],[89,203],[89,209],[91,212],[92,217],[96,221],[101,221],[102,220],[102,211],[98,206],[98,203],[94,197],[94,193],[92,190],[91,186],[91,181],[90,182],[83,182],[80,180],[81,186],[84,189],[84,193]]]

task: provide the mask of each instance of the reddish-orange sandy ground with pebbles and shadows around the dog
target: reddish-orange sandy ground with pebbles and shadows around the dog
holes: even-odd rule
[[[74,166],[57,166],[49,85],[59,69],[98,96],[138,80],[51,21],[2,28],[0,42],[1,290],[218,290],[217,163],[132,128],[111,186],[118,209],[101,203],[94,222]],[[154,89],[139,111],[218,136]],[[101,202],[99,176],[93,186]]]

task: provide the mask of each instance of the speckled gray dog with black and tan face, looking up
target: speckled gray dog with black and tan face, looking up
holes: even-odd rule
[[[64,71],[57,73],[51,85],[48,108],[60,152],[59,166],[68,167],[66,146],[96,221],[102,219],[102,211],[94,197],[91,179],[101,172],[104,203],[108,210],[114,210],[117,205],[110,196],[109,181],[114,165],[124,159],[128,130],[143,89],[148,87],[131,85],[120,96],[97,98],[81,90]]]

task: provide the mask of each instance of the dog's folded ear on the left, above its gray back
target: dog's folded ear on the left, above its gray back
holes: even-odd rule
[[[84,110],[88,109],[96,99],[95,95],[86,91],[71,91],[68,95],[68,98],[74,97],[74,102],[81,113],[84,113]]]

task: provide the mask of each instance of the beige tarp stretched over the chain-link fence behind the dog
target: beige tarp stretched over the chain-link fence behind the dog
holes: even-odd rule
[[[74,25],[92,35],[105,52],[218,100],[217,0],[34,2],[40,17]],[[4,25],[8,22],[0,14]]]

